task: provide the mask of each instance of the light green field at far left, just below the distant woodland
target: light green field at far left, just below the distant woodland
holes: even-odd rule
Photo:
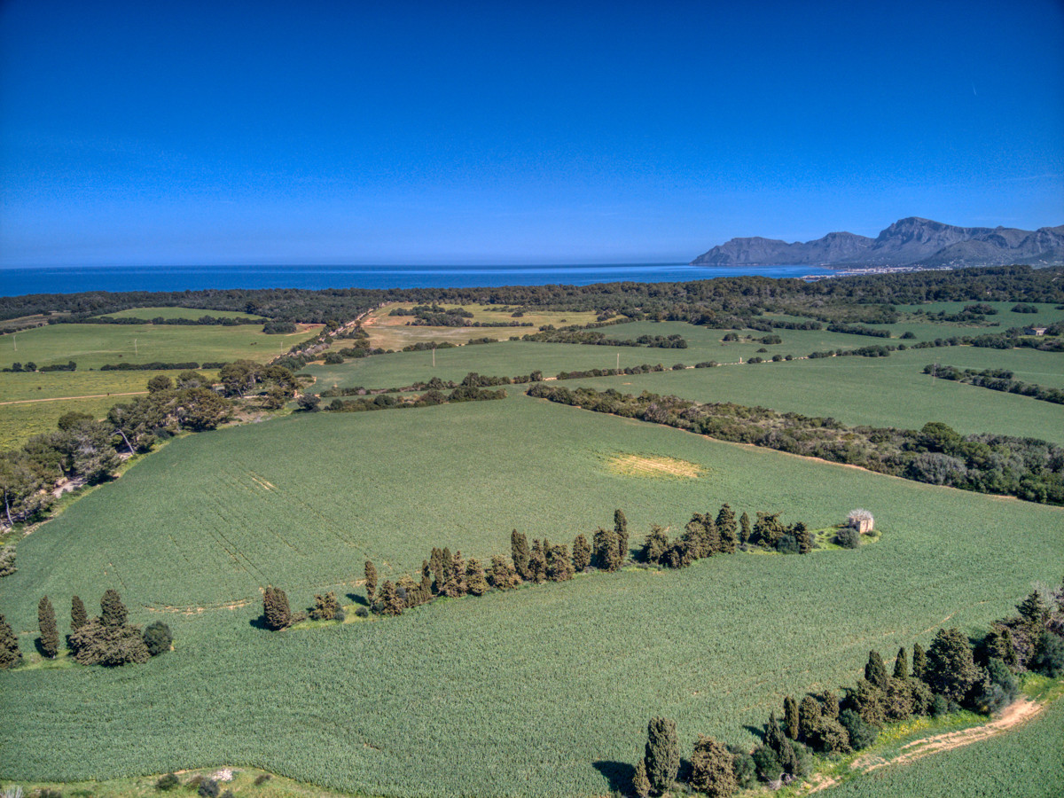
[[[0,364],[48,366],[74,361],[84,370],[120,362],[267,361],[306,338],[310,331],[304,326],[289,335],[266,335],[255,325],[52,325],[0,337]]]

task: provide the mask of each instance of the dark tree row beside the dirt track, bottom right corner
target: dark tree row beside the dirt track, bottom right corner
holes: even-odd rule
[[[975,646],[959,629],[940,629],[926,651],[913,645],[911,660],[902,647],[892,670],[879,651],[869,651],[864,678],[845,688],[842,698],[833,691],[809,694],[801,701],[787,696],[782,713],[769,714],[762,742],[752,751],[698,735],[685,784],[677,784],[676,722],[652,718],[632,789],[641,798],[678,786],[678,792],[689,787],[715,798],[729,798],[759,782],[778,789],[809,776],[814,754],[860,751],[887,724],[961,709],[998,712],[1018,695],[1019,675],[1064,674],[1064,585],[1049,597],[1031,593],[1016,609],[1017,615],[995,624]]]

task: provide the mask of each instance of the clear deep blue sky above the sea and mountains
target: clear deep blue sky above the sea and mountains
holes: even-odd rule
[[[0,2],[0,265],[1064,223],[1064,3]]]

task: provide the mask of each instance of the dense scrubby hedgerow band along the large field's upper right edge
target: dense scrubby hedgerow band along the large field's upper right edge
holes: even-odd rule
[[[632,396],[612,388],[570,390],[536,383],[528,393],[598,413],[857,465],[917,482],[1064,504],[1064,447],[1036,438],[961,435],[936,421],[919,431],[847,427],[833,418],[777,413],[730,402],[699,404],[649,392]]]

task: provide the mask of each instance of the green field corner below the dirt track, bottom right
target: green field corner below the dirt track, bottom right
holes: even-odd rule
[[[825,798],[1060,798],[1064,701],[993,739],[885,768],[824,793]]]

